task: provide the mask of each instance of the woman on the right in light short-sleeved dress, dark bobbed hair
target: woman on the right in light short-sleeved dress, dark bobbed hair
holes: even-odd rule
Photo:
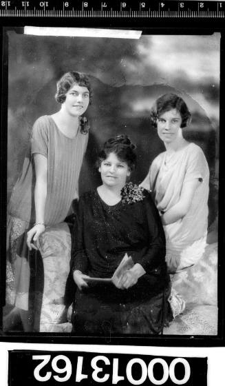
[[[164,94],[151,121],[166,150],[153,160],[142,187],[151,190],[167,240],[166,261],[175,274],[202,257],[208,227],[209,170],[202,149],[184,139],[191,113],[176,94]]]

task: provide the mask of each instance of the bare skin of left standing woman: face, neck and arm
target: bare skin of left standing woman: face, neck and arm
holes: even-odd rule
[[[61,105],[61,110],[52,114],[58,129],[68,136],[74,138],[78,132],[79,116],[87,110],[89,105],[89,90],[76,83],[72,85],[65,101]],[[28,248],[37,250],[36,243],[39,237],[45,232],[45,202],[47,197],[47,158],[42,154],[34,154],[34,165],[36,172],[36,184],[34,187],[34,203],[36,212],[36,223],[28,232]]]

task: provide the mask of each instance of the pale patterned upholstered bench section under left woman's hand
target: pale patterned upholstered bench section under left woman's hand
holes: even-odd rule
[[[71,332],[67,320],[65,287],[69,276],[71,236],[67,223],[49,227],[40,238],[44,285],[40,332]]]

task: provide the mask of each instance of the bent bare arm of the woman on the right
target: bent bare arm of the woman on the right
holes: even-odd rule
[[[195,190],[200,183],[199,179],[193,179],[191,181],[186,181],[183,184],[178,203],[173,205],[173,207],[167,210],[167,212],[164,212],[161,216],[163,225],[175,223],[175,221],[182,219],[185,214],[187,214],[189,207],[191,206]]]

